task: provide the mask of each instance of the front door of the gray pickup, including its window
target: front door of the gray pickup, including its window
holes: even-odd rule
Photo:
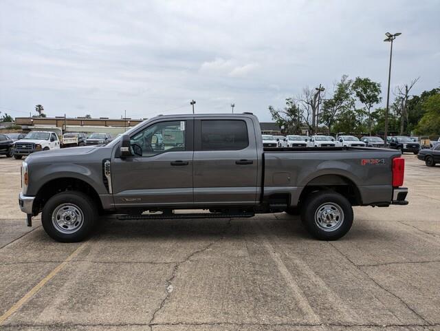
[[[142,156],[113,158],[115,206],[192,205],[192,128],[192,118],[158,120],[131,136],[132,151],[136,145]]]

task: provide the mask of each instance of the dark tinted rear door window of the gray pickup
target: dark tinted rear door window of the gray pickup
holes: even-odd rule
[[[201,120],[202,151],[238,151],[248,146],[244,120]]]

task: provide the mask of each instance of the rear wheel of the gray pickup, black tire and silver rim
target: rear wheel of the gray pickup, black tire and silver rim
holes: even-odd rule
[[[329,218],[323,217],[327,214]],[[334,229],[323,222],[329,219],[335,221]],[[336,240],[349,232],[353,224],[353,209],[343,195],[333,191],[320,191],[311,193],[305,200],[301,209],[301,220],[307,231],[317,239]]]

